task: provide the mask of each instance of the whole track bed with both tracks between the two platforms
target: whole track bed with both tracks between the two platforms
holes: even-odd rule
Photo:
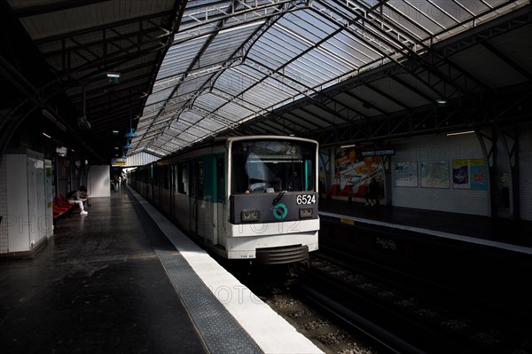
[[[246,285],[326,353],[532,353],[526,328],[511,319],[388,276],[314,256],[297,281],[270,273]]]

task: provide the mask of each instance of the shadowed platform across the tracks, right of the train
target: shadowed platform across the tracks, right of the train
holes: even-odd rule
[[[346,223],[377,225],[532,255],[532,222],[529,221],[387,205],[364,206],[361,202],[326,198],[319,200],[319,215]]]

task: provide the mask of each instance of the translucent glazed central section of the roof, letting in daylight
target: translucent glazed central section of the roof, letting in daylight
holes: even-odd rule
[[[525,0],[188,1],[131,153],[174,153]]]

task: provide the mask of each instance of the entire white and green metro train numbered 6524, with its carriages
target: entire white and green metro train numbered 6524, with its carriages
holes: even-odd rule
[[[218,138],[132,170],[128,183],[218,256],[294,264],[318,248],[317,158],[314,140]]]

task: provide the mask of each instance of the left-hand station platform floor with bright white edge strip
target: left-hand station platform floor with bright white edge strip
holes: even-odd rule
[[[2,353],[321,353],[133,190],[0,261]]]

